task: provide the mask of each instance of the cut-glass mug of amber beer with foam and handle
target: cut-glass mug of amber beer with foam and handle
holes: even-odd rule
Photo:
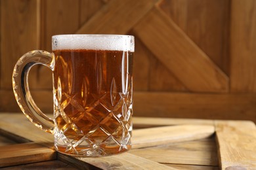
[[[54,35],[53,53],[33,50],[14,67],[12,86],[22,112],[53,133],[54,147],[75,156],[108,156],[131,148],[134,37]],[[54,118],[35,105],[28,86],[33,65],[53,71]]]

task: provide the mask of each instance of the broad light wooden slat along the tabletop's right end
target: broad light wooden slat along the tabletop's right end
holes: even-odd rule
[[[255,124],[246,121],[216,121],[215,127],[221,169],[255,169]]]

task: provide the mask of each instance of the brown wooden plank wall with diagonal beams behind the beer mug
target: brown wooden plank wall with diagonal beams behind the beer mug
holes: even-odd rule
[[[0,0],[0,111],[20,112],[12,69],[22,54],[51,51],[65,33],[135,35],[134,116],[256,122],[254,0]],[[30,88],[53,112],[52,76],[30,72]]]

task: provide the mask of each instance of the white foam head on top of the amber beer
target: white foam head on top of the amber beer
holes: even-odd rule
[[[135,50],[131,35],[54,35],[52,42],[53,50]]]

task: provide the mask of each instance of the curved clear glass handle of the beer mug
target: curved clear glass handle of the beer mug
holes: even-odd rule
[[[18,106],[35,126],[53,134],[54,121],[47,117],[33,101],[28,86],[28,73],[33,65],[42,64],[54,70],[54,54],[33,50],[24,54],[16,63],[12,73],[12,88]]]

